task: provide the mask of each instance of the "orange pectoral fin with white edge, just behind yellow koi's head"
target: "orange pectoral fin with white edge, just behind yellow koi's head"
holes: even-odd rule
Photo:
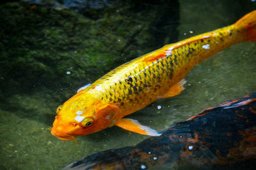
[[[141,125],[138,120],[133,120],[131,118],[121,118],[118,122],[115,124],[118,127],[121,127],[122,129],[125,129],[127,131],[136,132],[138,134],[145,134],[148,136],[160,136],[161,134],[157,132],[154,129],[151,129],[148,126]]]

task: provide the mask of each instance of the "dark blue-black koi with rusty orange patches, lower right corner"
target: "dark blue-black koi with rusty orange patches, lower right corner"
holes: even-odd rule
[[[255,169],[255,113],[256,93],[208,108],[136,146],[93,153],[64,169]],[[179,164],[183,168],[174,167]]]

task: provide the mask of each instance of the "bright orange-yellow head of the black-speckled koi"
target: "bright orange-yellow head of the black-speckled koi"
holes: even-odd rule
[[[51,134],[61,140],[92,134],[115,125],[118,108],[79,93],[59,106]]]

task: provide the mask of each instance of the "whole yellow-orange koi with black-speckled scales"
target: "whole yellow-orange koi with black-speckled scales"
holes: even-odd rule
[[[159,136],[137,120],[123,118],[157,99],[177,96],[184,90],[183,79],[199,62],[228,46],[256,42],[256,11],[235,24],[194,36],[127,62],[59,106],[51,134],[72,140],[116,125],[127,131]]]

